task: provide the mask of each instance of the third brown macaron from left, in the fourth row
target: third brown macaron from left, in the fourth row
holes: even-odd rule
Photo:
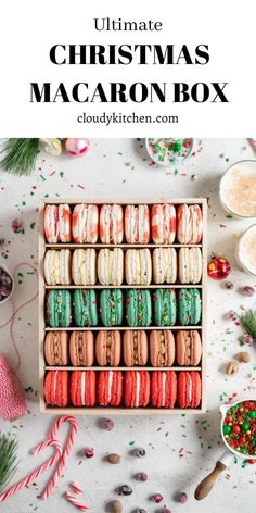
[[[95,355],[102,367],[117,367],[120,363],[120,331],[99,331],[95,340]]]

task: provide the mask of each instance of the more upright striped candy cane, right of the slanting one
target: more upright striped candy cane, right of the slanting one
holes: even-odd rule
[[[67,442],[66,442],[66,446],[63,450],[62,456],[60,459],[59,465],[57,465],[53,476],[51,477],[50,481],[48,483],[48,485],[47,485],[47,487],[46,487],[46,489],[42,493],[41,498],[43,500],[46,500],[50,497],[50,495],[52,493],[53,488],[55,488],[55,486],[57,484],[59,477],[62,475],[64,468],[66,467],[67,458],[71,454],[72,448],[73,448],[74,442],[75,442],[75,437],[76,437],[76,434],[77,434],[77,430],[78,430],[78,424],[77,424],[76,418],[71,416],[71,415],[63,415],[63,416],[59,417],[56,420],[55,424],[53,425],[53,427],[50,431],[50,438],[54,439],[56,437],[56,434],[57,434],[60,427],[62,426],[62,424],[64,422],[68,422],[71,424],[71,433],[69,433],[69,436],[67,438]]]

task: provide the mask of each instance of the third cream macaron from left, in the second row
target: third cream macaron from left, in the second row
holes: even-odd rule
[[[123,249],[101,249],[98,253],[97,267],[101,285],[121,285],[124,279]]]

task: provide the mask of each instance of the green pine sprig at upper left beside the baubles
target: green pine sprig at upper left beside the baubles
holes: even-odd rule
[[[0,153],[4,153],[0,167],[16,175],[30,175],[39,152],[39,139],[7,139]]]

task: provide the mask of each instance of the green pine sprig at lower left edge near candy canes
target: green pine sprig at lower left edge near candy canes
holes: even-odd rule
[[[17,467],[17,441],[7,435],[0,435],[0,490],[13,477]]]

